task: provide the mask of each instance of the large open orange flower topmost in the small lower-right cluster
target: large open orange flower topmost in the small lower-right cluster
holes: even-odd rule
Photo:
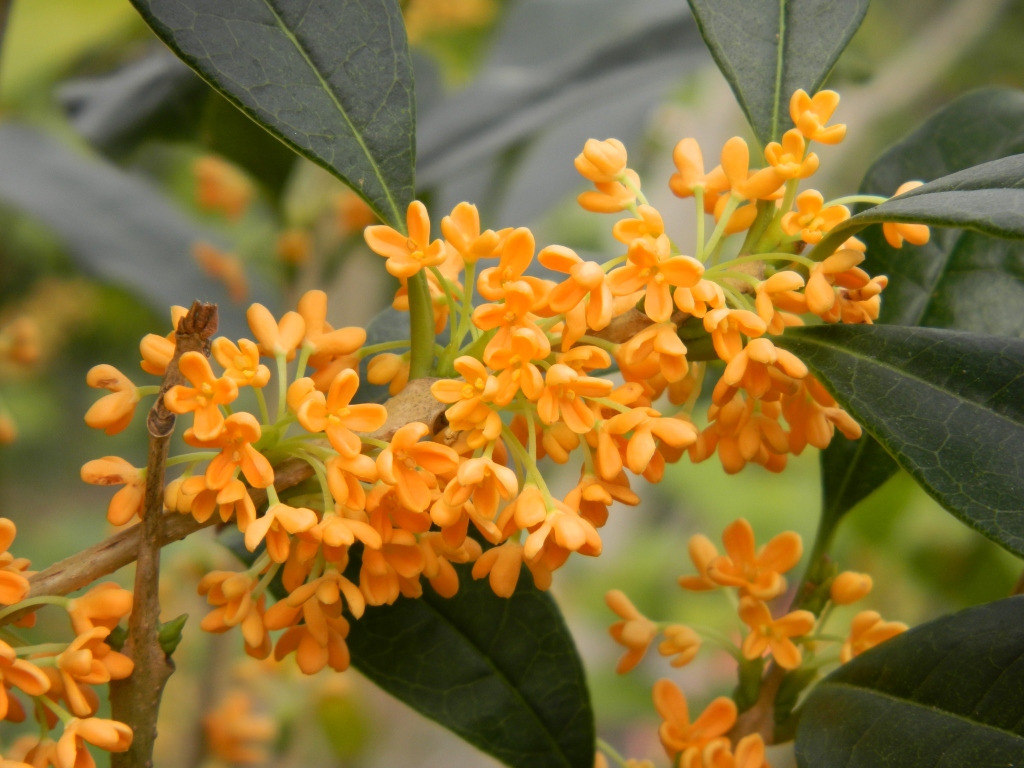
[[[743,518],[722,531],[725,555],[708,565],[708,575],[723,587],[736,587],[744,595],[770,600],[785,591],[782,573],[796,566],[804,547],[799,534],[779,534],[755,551],[754,529]]]

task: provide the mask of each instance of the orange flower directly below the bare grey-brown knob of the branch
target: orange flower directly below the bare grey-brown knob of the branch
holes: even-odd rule
[[[394,433],[391,444],[377,457],[377,471],[384,482],[393,485],[402,506],[423,512],[430,506],[430,486],[419,468],[443,474],[459,466],[459,455],[447,445],[420,442],[430,428],[421,422],[407,424]]]

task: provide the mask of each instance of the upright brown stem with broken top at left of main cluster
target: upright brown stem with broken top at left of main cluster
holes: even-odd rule
[[[163,547],[164,472],[175,416],[164,404],[171,387],[184,384],[178,360],[185,352],[210,353],[210,338],[217,331],[216,304],[195,302],[178,322],[174,356],[150,411],[150,457],[146,462],[145,507],[135,565],[135,590],[124,653],[135,663],[131,676],[111,683],[111,712],[134,732],[131,748],[111,756],[112,768],[151,768],[157,740],[157,716],[164,685],[174,663],[160,645],[160,549]]]

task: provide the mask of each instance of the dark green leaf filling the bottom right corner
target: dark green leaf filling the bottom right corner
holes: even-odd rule
[[[825,678],[803,707],[800,768],[1024,764],[1024,597],[906,632]]]

